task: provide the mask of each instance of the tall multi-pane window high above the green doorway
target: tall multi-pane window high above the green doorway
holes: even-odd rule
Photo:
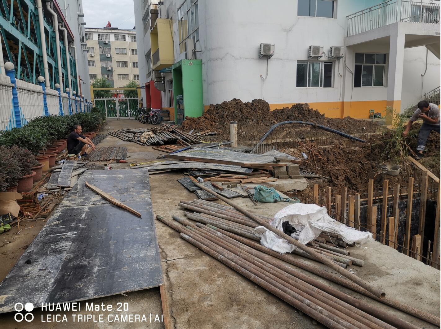
[[[179,52],[185,51],[185,40],[199,40],[198,1],[185,0],[178,9]]]

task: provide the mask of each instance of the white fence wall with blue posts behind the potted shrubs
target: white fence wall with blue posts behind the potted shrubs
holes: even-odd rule
[[[6,75],[0,74],[0,130],[22,127],[30,120],[48,115],[71,115],[90,112],[92,102],[82,95],[71,95],[69,89],[60,91],[45,88],[45,79],[38,77],[39,84],[15,79],[14,65],[4,64]],[[80,97],[81,96],[81,97]]]

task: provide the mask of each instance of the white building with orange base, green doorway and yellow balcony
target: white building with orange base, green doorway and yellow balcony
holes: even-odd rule
[[[145,105],[181,119],[233,98],[368,118],[439,97],[437,0],[134,3]]]

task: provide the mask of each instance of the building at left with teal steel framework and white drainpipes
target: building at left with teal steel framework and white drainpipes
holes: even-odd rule
[[[1,1],[0,62],[12,62],[19,80],[37,84],[41,76],[47,88],[60,84],[90,99],[82,1],[62,7],[56,0]]]

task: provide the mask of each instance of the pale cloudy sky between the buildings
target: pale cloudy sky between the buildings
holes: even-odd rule
[[[107,21],[120,29],[135,26],[133,0],[83,0],[82,4],[86,27],[105,27]]]

